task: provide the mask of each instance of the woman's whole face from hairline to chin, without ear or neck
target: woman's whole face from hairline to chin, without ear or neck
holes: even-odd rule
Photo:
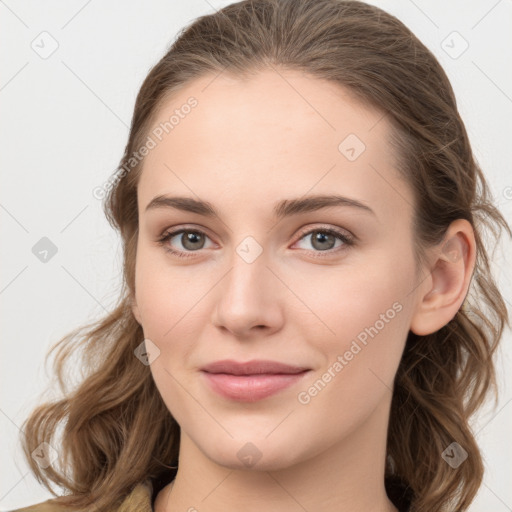
[[[344,89],[284,70],[204,77],[160,110],[138,188],[133,310],[182,443],[210,460],[276,469],[385,438],[418,294],[413,197],[389,129]],[[335,196],[346,199],[320,208]],[[185,233],[160,244],[172,231]],[[307,371],[202,370],[226,359]]]

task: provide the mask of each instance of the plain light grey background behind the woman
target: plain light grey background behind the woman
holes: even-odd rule
[[[119,290],[120,243],[92,190],[121,158],[150,67],[185,24],[229,3],[0,0],[0,510],[53,497],[28,472],[18,426],[49,382],[49,346],[105,314]],[[440,60],[496,203],[511,219],[512,2],[370,3],[401,19]],[[32,252],[42,237],[57,247],[46,263]],[[503,257],[510,250],[505,240],[494,263],[509,306],[511,271]],[[472,512],[512,510],[512,392],[505,371],[511,352],[507,331],[499,404],[475,425],[487,472]]]

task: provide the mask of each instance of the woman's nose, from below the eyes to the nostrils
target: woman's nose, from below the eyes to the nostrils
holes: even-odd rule
[[[263,254],[252,262],[236,254],[216,289],[212,323],[217,328],[244,339],[281,328],[286,286]]]

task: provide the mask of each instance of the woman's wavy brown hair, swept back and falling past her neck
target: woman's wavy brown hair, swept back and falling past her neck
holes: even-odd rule
[[[125,171],[104,203],[122,237],[122,292],[110,314],[52,348],[48,355],[59,347],[54,366],[64,395],[37,407],[23,425],[34,474],[53,494],[49,481],[67,489],[68,506],[110,510],[135,484],[162,477],[177,460],[179,426],[149,367],[134,356],[144,339],[131,311],[143,161],[126,172],[129,159],[163,101],[187,83],[208,73],[241,76],[277,66],[339,84],[386,114],[399,170],[415,197],[418,261],[453,220],[467,219],[474,228],[476,264],[462,307],[435,333],[409,333],[395,379],[386,477],[409,486],[414,511],[466,510],[477,493],[483,463],[469,419],[496,390],[492,356],[508,325],[482,235],[484,227],[495,239],[502,228],[512,231],[492,204],[448,78],[409,29],[377,7],[350,0],[246,0],[183,29],[137,96],[117,176]],[[78,351],[86,374],[68,391],[64,366]],[[60,469],[43,469],[31,452],[52,443],[63,421],[62,441],[54,444]],[[469,454],[457,469],[441,459],[452,442]]]

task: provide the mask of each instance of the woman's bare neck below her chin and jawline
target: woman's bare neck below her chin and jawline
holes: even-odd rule
[[[381,403],[336,444],[275,470],[221,466],[182,432],[176,478],[155,512],[396,512],[384,488],[389,406]]]

